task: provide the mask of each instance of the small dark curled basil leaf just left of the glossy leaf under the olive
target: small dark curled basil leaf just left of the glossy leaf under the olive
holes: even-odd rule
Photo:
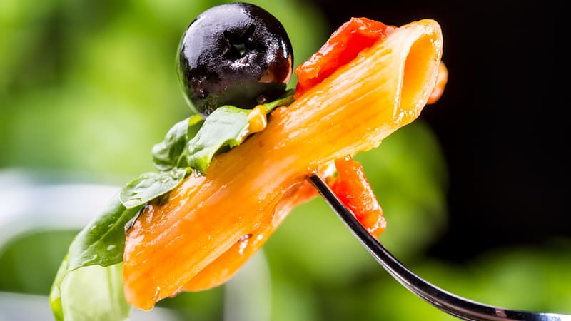
[[[187,167],[188,140],[200,128],[203,118],[195,115],[176,123],[165,136],[164,141],[153,146],[153,163],[161,171],[176,167]]]

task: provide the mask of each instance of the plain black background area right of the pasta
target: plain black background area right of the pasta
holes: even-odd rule
[[[351,16],[396,26],[430,18],[442,26],[448,85],[420,116],[435,131],[449,170],[450,223],[431,255],[461,261],[571,236],[562,4],[314,2],[331,26]]]

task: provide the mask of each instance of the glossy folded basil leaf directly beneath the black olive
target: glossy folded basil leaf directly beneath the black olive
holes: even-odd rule
[[[291,91],[285,98],[265,103],[266,113],[278,106],[288,106],[293,102]],[[188,141],[188,166],[206,172],[212,158],[225,147],[240,145],[250,134],[248,131],[249,109],[234,106],[221,106],[213,111],[204,121],[196,136]]]

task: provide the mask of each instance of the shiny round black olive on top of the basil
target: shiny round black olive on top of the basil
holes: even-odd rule
[[[223,105],[249,109],[275,100],[292,70],[293,50],[280,21],[242,2],[198,15],[178,50],[183,90],[205,117]]]

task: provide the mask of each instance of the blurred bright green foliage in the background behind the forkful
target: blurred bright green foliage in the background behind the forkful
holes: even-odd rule
[[[295,65],[336,27],[308,3],[251,2],[282,21]],[[151,146],[191,113],[176,78],[178,41],[197,14],[220,3],[0,1],[0,175],[25,173],[32,186],[118,187],[153,170]],[[566,238],[497,248],[462,262],[430,256],[428,248],[448,228],[449,176],[440,143],[422,118],[357,158],[388,220],[380,240],[413,271],[473,300],[571,313]],[[0,191],[12,187],[4,176]],[[0,225],[2,211],[9,212],[0,209]],[[79,228],[57,225],[0,243],[0,291],[48,294]],[[296,208],[260,258],[269,282],[251,309],[267,309],[273,321],[453,320],[390,278],[320,199]],[[178,320],[233,320],[226,287],[182,293],[158,307]]]

